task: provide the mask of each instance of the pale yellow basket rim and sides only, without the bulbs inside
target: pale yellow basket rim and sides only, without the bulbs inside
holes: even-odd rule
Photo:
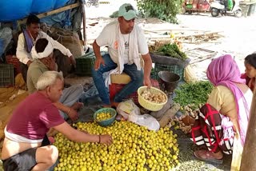
[[[158,110],[162,109],[162,107],[163,107],[164,105],[166,105],[166,102],[168,101],[167,96],[166,96],[166,93],[163,93],[160,89],[151,87],[151,88],[149,89],[150,93],[159,93],[159,92],[160,92],[160,93],[164,94],[165,97],[166,97],[166,101],[163,102],[163,103],[153,103],[153,102],[151,102],[151,101],[147,101],[146,99],[144,99],[144,98],[142,97],[141,94],[142,94],[142,92],[143,92],[145,89],[147,89],[147,86],[141,86],[140,88],[138,88],[138,103],[139,103],[140,105],[142,105],[142,107],[144,107],[145,109],[149,109],[149,110],[151,110],[151,111],[158,111]]]

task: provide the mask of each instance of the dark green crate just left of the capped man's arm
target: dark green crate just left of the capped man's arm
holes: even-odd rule
[[[83,76],[91,76],[91,68],[94,66],[95,55],[93,52],[76,58],[75,74]]]

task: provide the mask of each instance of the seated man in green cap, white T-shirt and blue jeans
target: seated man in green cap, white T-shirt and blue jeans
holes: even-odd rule
[[[144,33],[134,24],[135,18],[138,17],[134,7],[129,3],[123,4],[118,10],[118,21],[105,26],[93,44],[96,61],[94,62],[92,75],[99,96],[106,106],[118,105],[123,98],[137,91],[138,87],[143,84],[148,87],[151,86],[152,61]],[[109,54],[102,56],[100,53],[101,46],[108,46]],[[144,61],[143,70],[140,54]],[[106,78],[106,82],[102,77],[102,74],[109,71],[110,74],[122,74],[124,72],[131,78],[131,81],[115,95],[114,101],[110,101],[106,89],[110,74]]]

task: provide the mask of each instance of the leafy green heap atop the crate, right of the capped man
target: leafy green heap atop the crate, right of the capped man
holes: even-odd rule
[[[182,61],[185,61],[187,58],[186,54],[181,50],[179,50],[176,43],[160,46],[158,50],[155,52],[155,54],[168,56],[171,58],[178,58],[178,59],[181,59]]]

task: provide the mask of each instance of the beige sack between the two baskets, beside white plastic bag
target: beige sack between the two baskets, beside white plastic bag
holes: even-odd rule
[[[128,120],[130,114],[136,114],[136,115],[141,114],[138,106],[135,105],[134,101],[132,100],[123,101],[119,103],[117,112],[118,114],[121,114],[125,120]]]

